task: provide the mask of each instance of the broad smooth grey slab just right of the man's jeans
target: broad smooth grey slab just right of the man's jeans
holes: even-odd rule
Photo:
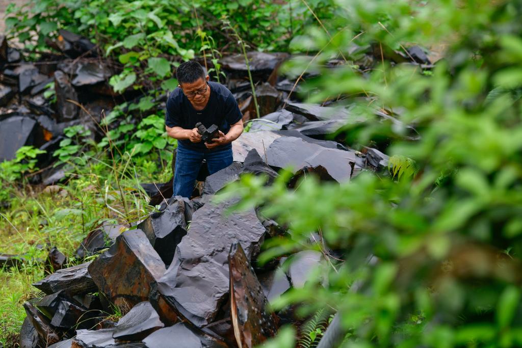
[[[267,149],[267,161],[271,166],[292,166],[295,173],[304,167],[322,165],[338,182],[350,179],[354,157],[352,152],[327,149],[295,137],[278,138]]]

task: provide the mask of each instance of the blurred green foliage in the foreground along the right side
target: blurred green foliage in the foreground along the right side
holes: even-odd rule
[[[381,150],[394,157],[389,175],[341,185],[307,176],[289,189],[283,173],[272,186],[244,176],[229,188],[239,208],[262,206],[289,226],[263,260],[306,248],[329,259],[276,307],[335,308],[350,332],[345,347],[522,345],[521,16],[520,1],[339,0],[331,22],[342,26],[292,41],[321,51],[286,66],[319,73],[303,86],[309,100],[357,104],[367,122],[347,125],[351,145],[389,139]],[[390,50],[406,54],[413,42],[446,46],[429,73],[391,63]],[[377,47],[382,62],[359,71],[354,45]],[[326,66],[341,53],[347,63]],[[419,139],[383,126],[376,107]],[[324,244],[311,245],[312,232]]]

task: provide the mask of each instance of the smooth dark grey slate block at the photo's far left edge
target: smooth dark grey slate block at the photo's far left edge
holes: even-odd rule
[[[0,162],[15,158],[16,151],[33,145],[36,121],[26,116],[13,116],[0,121]]]

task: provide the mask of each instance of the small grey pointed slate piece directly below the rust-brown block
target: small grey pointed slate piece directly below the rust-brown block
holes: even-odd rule
[[[122,341],[139,341],[163,326],[150,303],[141,302],[118,321],[112,337]]]

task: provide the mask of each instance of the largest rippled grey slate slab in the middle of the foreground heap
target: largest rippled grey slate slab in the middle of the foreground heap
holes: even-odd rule
[[[194,213],[191,228],[158,282],[165,301],[196,326],[210,323],[227,297],[232,243],[241,243],[250,259],[263,242],[265,227],[253,209],[225,214],[233,203],[210,201]]]

